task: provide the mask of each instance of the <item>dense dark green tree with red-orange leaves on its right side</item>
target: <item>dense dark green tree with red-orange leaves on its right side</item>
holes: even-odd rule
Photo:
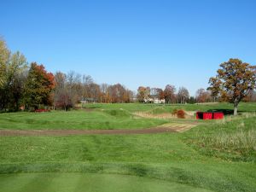
[[[38,108],[41,104],[52,104],[52,91],[55,88],[54,75],[48,73],[43,65],[32,62],[27,74],[24,90],[26,108]]]

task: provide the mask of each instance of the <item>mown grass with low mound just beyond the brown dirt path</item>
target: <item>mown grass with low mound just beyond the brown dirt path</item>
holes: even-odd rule
[[[162,125],[165,119],[143,119],[121,109],[50,113],[0,113],[0,129],[137,129]]]

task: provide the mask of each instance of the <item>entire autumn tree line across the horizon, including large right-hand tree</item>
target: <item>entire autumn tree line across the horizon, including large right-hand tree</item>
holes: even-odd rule
[[[25,55],[12,53],[0,39],[0,111],[33,110],[50,106],[67,110],[86,102],[173,103],[256,102],[255,68],[238,59],[220,65],[218,75],[209,80],[210,87],[189,96],[185,87],[167,84],[165,89],[139,86],[137,94],[122,84],[96,84],[90,75],[49,73],[37,62],[28,64]]]

